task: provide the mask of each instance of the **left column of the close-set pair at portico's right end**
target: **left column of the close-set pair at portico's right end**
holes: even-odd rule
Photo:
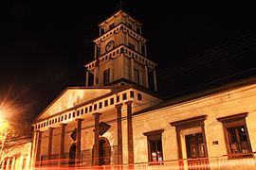
[[[116,105],[117,117],[118,117],[118,164],[122,164],[122,127],[121,127],[121,106],[122,104]]]

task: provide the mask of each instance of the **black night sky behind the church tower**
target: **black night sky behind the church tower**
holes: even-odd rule
[[[126,0],[123,5],[143,23],[149,58],[158,63],[160,93],[255,73],[254,6],[178,2]],[[9,117],[30,122],[65,88],[84,85],[83,64],[93,59],[98,24],[118,5],[119,0],[0,5],[0,103],[14,108]]]

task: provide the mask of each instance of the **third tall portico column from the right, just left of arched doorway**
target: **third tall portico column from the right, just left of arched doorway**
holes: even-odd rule
[[[93,113],[94,118],[94,158],[93,165],[99,165],[100,156],[100,112]]]

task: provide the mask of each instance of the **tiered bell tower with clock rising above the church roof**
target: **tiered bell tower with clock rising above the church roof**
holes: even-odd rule
[[[84,65],[85,86],[89,86],[89,77],[93,77],[94,87],[137,84],[149,89],[151,82],[157,91],[156,64],[148,59],[147,40],[142,36],[141,26],[121,9],[99,24],[100,36],[93,41],[94,60]]]

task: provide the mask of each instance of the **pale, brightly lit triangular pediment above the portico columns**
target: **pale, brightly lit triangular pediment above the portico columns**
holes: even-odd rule
[[[68,110],[110,92],[111,89],[67,88],[38,116],[35,121],[45,119],[56,113]]]

